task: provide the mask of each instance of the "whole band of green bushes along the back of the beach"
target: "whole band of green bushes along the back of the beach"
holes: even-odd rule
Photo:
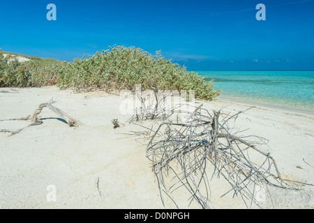
[[[16,56],[16,55],[15,55]],[[24,56],[23,57],[27,57]],[[73,62],[40,59],[28,56],[31,61],[20,63],[0,51],[0,86],[47,86],[58,84],[63,88],[91,90],[98,88],[135,90],[194,90],[195,97],[212,100],[219,91],[214,84],[195,72],[165,59],[160,52],[152,56],[140,48],[114,46],[87,59]]]

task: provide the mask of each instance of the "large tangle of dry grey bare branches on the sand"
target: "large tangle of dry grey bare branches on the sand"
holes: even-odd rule
[[[173,117],[173,112],[169,113],[152,103],[149,107],[144,105],[143,100],[142,106],[137,108],[140,113],[136,112],[130,123],[154,119],[153,124],[158,123],[158,127],[146,126],[149,129],[146,134],[132,131],[129,135],[149,141],[146,143],[147,158],[158,181],[164,205],[163,195],[167,195],[179,208],[175,192],[185,188],[190,193],[189,202],[194,200],[202,208],[213,208],[210,180],[214,176],[223,176],[231,186],[223,196],[233,192],[234,197],[243,199],[247,208],[251,208],[253,203],[262,208],[255,187],[267,188],[271,185],[299,190],[288,184],[292,180],[282,178],[274,157],[261,148],[267,145],[267,139],[239,135],[243,134],[242,131],[234,132],[234,128],[229,127],[230,121],[235,121],[247,109],[232,115],[224,114],[223,110],[209,112],[200,105],[195,106],[193,112],[180,110]],[[187,118],[180,118],[182,114],[186,114]]]

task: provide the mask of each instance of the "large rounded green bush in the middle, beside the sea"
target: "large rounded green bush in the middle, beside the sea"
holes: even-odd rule
[[[75,59],[59,74],[59,86],[76,89],[126,89],[135,90],[141,84],[142,90],[194,90],[195,97],[212,100],[219,91],[214,84],[195,72],[165,59],[160,52],[152,56],[140,48],[114,46],[96,52],[89,59]]]

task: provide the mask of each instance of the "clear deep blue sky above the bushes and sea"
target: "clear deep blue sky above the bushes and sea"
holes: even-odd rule
[[[0,48],[73,61],[117,44],[188,70],[314,70],[313,15],[314,0],[3,0]]]

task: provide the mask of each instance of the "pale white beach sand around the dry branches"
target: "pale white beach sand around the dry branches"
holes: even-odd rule
[[[145,147],[123,133],[141,130],[136,125],[112,128],[111,120],[127,121],[119,105],[123,99],[103,92],[73,93],[56,86],[40,89],[0,89],[0,119],[33,114],[40,103],[56,100],[59,107],[86,126],[69,128],[49,109],[40,114],[42,125],[8,137],[0,133],[0,208],[175,208],[165,197],[160,201],[158,184],[145,157]],[[209,110],[232,114],[248,105],[206,102]],[[28,121],[2,121],[0,129],[17,130]],[[235,123],[246,134],[269,139],[269,147],[284,178],[314,183],[314,116],[255,107]],[[298,168],[298,167],[301,167]],[[97,181],[99,178],[98,188]],[[53,185],[56,201],[47,201]],[[269,188],[272,202],[264,208],[314,208],[314,187],[299,191]],[[211,180],[211,203],[215,208],[246,208],[241,197],[220,198],[230,186],[221,178]],[[188,206],[189,195],[178,191],[179,208]],[[49,198],[49,196],[48,196]],[[52,197],[53,198],[53,197]]]

